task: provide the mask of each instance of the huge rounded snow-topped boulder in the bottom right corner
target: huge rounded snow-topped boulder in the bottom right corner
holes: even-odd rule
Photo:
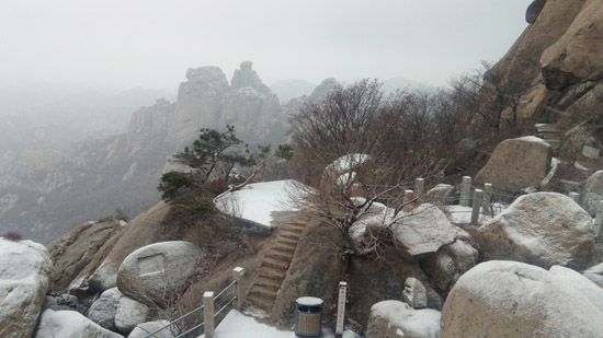
[[[491,260],[463,275],[442,310],[442,338],[601,337],[603,289],[559,266]]]

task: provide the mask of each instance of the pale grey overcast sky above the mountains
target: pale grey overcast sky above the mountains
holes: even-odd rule
[[[0,84],[175,91],[190,67],[266,84],[405,77],[444,84],[497,60],[530,0],[0,0]]]

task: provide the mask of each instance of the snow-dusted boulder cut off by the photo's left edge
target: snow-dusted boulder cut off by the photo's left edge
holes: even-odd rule
[[[0,337],[31,337],[53,263],[44,245],[0,237]]]

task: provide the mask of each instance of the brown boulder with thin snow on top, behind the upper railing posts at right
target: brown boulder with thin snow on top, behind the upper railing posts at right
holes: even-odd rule
[[[515,193],[536,187],[548,173],[550,145],[537,137],[523,137],[500,142],[476,182],[491,183],[496,189]]]

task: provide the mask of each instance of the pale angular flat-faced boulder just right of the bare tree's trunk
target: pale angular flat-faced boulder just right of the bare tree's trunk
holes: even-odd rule
[[[396,245],[410,256],[435,253],[453,243],[459,229],[453,225],[440,208],[423,203],[399,217],[391,226]]]

